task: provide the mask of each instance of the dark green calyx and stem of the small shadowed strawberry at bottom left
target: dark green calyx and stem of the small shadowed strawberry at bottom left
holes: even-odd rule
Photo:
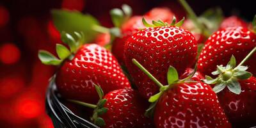
[[[99,127],[102,127],[102,126],[106,125],[106,123],[105,123],[104,119],[100,117],[100,115],[104,115],[104,113],[107,113],[107,111],[108,111],[108,108],[104,108],[104,105],[106,104],[107,99],[102,99],[103,96],[104,96],[104,92],[103,92],[102,88],[100,88],[100,86],[98,86],[96,84],[93,84],[93,85],[95,86],[95,90],[97,91],[97,93],[99,95],[99,98],[100,98],[96,105],[95,104],[89,104],[89,103],[86,103],[86,102],[81,102],[81,101],[78,101],[78,100],[68,100],[68,101],[74,102],[74,103],[79,104],[81,106],[85,106],[87,108],[92,108],[93,109],[93,115],[90,118],[91,121],[93,122],[93,124],[95,124]]]

